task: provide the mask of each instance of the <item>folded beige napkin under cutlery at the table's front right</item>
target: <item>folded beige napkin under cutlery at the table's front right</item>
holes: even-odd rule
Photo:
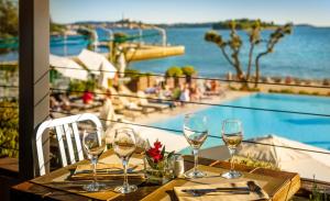
[[[256,182],[255,182],[256,183]],[[233,187],[248,187],[246,181],[240,182],[223,182],[223,183],[215,183],[215,185],[198,185],[198,186],[187,186],[187,187],[174,187],[175,194],[177,196],[179,201],[238,201],[238,200],[267,200],[270,199],[268,194],[261,190],[258,192],[250,191],[249,194],[234,194],[230,192],[234,192],[238,190],[233,190],[230,192],[209,192],[199,197],[194,197],[191,193],[184,192],[185,190],[194,190],[194,189],[216,189],[216,188],[233,188]],[[183,191],[184,190],[184,191]]]

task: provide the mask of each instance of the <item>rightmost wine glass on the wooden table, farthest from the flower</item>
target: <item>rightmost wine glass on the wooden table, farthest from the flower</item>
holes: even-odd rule
[[[221,176],[227,179],[234,179],[242,176],[241,172],[234,170],[233,155],[237,147],[243,139],[242,122],[240,120],[224,120],[222,122],[222,141],[230,153],[230,170]]]

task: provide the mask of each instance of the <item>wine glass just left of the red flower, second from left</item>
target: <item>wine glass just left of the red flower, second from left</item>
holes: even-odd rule
[[[123,185],[114,189],[116,192],[130,193],[138,190],[135,185],[129,185],[128,165],[130,157],[136,148],[135,132],[129,127],[116,130],[112,147],[117,156],[122,160],[124,181]]]

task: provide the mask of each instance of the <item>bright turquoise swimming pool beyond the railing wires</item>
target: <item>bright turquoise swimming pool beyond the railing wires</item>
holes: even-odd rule
[[[254,93],[223,104],[262,109],[286,110],[306,113],[330,114],[330,98]],[[210,135],[220,136],[221,122],[224,119],[240,119],[243,122],[244,138],[275,134],[309,145],[330,149],[330,118],[278,113],[223,107],[210,107],[197,113],[209,119]],[[153,123],[153,126],[182,130],[184,114],[169,120]],[[182,133],[176,133],[182,135]],[[222,144],[221,139],[208,137],[202,148]]]

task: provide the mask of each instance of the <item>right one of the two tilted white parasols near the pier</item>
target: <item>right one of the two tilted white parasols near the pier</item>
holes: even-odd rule
[[[100,76],[100,86],[108,88],[108,79],[114,78],[117,69],[103,55],[82,49],[78,55],[78,59],[91,70],[91,74]]]

